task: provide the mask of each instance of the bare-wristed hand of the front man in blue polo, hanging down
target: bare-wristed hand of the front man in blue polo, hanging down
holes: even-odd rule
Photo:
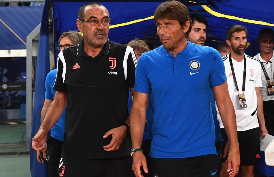
[[[240,151],[238,147],[229,147],[229,153],[227,156],[227,172],[229,172],[229,177],[234,177],[238,174],[240,166]]]

